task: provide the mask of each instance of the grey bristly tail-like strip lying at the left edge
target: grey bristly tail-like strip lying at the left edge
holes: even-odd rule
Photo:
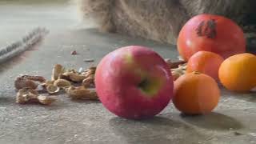
[[[10,58],[14,58],[18,54],[30,49],[36,43],[40,42],[42,38],[48,34],[49,31],[45,28],[35,28],[20,41],[14,42],[9,46],[0,48],[0,63],[6,62]]]

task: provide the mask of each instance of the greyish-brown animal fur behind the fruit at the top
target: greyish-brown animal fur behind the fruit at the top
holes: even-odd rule
[[[255,0],[78,0],[84,18],[100,30],[175,43],[178,32],[196,14],[219,14],[255,29]]]

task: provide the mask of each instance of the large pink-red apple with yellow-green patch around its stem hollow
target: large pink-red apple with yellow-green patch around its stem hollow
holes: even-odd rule
[[[146,79],[146,88],[142,83]],[[122,118],[151,118],[173,97],[174,82],[164,59],[142,46],[126,46],[102,58],[95,86],[103,106]]]

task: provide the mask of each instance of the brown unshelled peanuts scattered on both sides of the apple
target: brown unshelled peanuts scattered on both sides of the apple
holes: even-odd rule
[[[171,62],[166,59],[174,81],[186,71],[186,62]],[[50,80],[42,76],[21,75],[14,82],[18,90],[16,102],[26,104],[37,102],[50,105],[57,100],[56,95],[65,92],[71,99],[98,100],[94,86],[96,67],[87,70],[65,70],[62,65],[55,65]],[[48,94],[48,95],[46,95]]]

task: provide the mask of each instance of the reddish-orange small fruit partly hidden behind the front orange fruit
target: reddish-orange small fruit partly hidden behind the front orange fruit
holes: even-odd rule
[[[210,51],[198,51],[188,61],[186,72],[198,71],[218,81],[218,69],[224,58]]]

